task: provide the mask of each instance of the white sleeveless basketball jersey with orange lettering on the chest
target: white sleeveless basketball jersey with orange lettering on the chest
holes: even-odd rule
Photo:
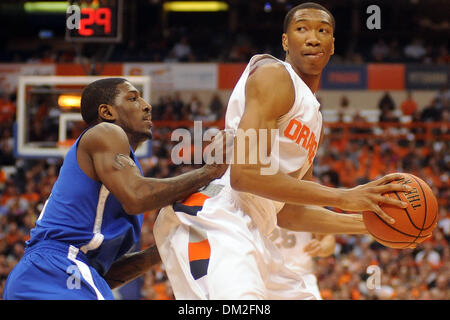
[[[288,71],[295,89],[295,101],[292,108],[277,121],[278,134],[273,143],[278,145],[278,152],[272,152],[271,161],[278,164],[278,170],[284,173],[296,172],[299,169],[300,178],[311,166],[319,144],[322,129],[320,104],[309,87],[297,75],[292,66],[271,55],[255,55],[244,70],[235,86],[225,116],[226,129],[236,130],[239,127],[245,110],[245,86],[249,74],[261,65],[280,63]],[[272,144],[272,151],[275,149]],[[229,170],[220,179],[225,185],[230,185]],[[250,193],[232,191],[236,204],[247,214],[260,229],[263,235],[268,235],[277,225],[277,213],[284,203],[272,201]]]

